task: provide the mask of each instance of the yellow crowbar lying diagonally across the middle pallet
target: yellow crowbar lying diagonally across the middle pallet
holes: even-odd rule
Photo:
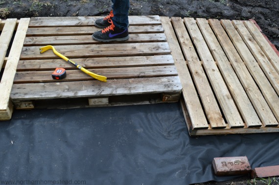
[[[69,62],[70,64],[73,64],[74,66],[76,66],[78,69],[82,70],[83,72],[85,72],[89,76],[92,76],[94,79],[97,79],[97,80],[102,81],[102,82],[107,82],[107,77],[104,77],[104,76],[92,73],[89,70],[85,69],[84,67],[82,67],[82,66],[78,65],[77,63],[71,61],[70,59],[68,59],[64,55],[62,55],[59,52],[57,52],[52,45],[47,45],[47,46],[41,47],[40,48],[40,53],[44,53],[45,51],[47,51],[49,49],[52,49],[52,51],[54,52],[55,55],[57,55],[58,57],[64,59],[65,61]]]

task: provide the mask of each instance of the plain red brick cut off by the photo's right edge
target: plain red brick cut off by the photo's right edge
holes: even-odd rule
[[[266,177],[278,177],[279,176],[279,165],[256,167],[251,171],[251,178],[266,178]]]

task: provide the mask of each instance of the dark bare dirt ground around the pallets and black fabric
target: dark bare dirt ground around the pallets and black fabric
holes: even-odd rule
[[[279,0],[130,0],[129,15],[159,15],[206,19],[254,19],[279,49]],[[0,18],[104,16],[111,0],[0,0]],[[271,182],[271,183],[269,183]],[[279,185],[279,179],[248,176],[196,185]]]

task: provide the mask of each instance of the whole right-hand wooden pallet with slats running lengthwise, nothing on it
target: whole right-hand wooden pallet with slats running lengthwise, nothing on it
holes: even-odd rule
[[[254,23],[161,20],[191,136],[279,132],[279,57]]]

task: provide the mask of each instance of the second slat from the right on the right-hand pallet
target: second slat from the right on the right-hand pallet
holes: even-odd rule
[[[243,22],[232,21],[232,24],[250,49],[251,53],[260,65],[265,76],[269,79],[269,82],[272,84],[275,91],[279,94],[279,73],[277,73],[271,62],[268,61],[267,57],[262,52],[261,48],[257,45],[256,41],[251,36],[250,32],[247,30]]]

